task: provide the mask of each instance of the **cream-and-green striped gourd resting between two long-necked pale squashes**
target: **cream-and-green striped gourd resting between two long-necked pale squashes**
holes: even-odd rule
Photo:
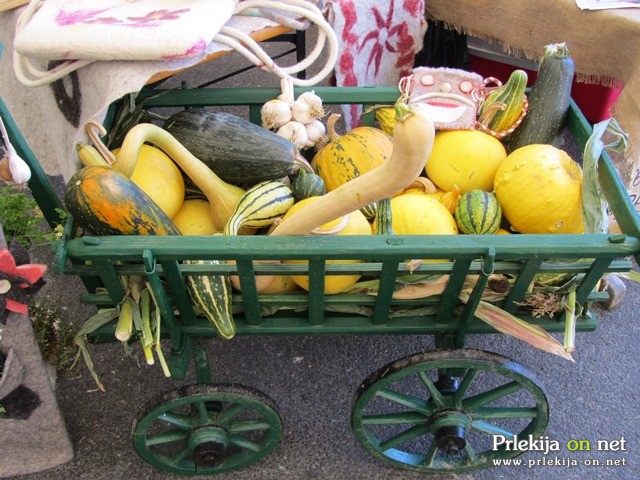
[[[293,192],[284,183],[267,180],[242,196],[224,228],[225,235],[237,235],[242,227],[268,227],[291,208]]]

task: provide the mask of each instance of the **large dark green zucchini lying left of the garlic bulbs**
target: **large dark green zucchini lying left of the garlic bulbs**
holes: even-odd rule
[[[190,108],[169,117],[164,129],[234,185],[286,177],[300,157],[289,140],[225,112]]]

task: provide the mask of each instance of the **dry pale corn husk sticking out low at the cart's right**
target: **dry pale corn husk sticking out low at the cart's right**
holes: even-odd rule
[[[565,351],[564,346],[544,328],[525,322],[495,305],[480,301],[474,315],[501,333],[511,335],[545,352],[574,361],[571,354]]]

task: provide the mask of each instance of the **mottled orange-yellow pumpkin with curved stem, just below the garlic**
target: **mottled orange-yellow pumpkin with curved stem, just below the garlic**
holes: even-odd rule
[[[311,162],[315,172],[324,180],[327,191],[379,167],[391,156],[391,136],[374,127],[357,127],[343,136],[335,131],[340,115],[327,122],[329,143],[320,149]]]

